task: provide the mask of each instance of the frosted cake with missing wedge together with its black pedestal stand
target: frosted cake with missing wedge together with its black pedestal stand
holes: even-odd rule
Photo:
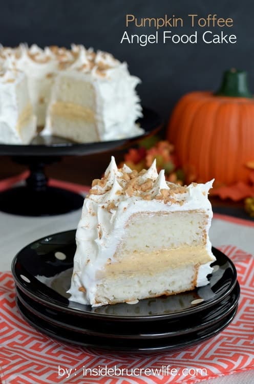
[[[59,161],[60,156],[114,150],[155,133],[161,125],[155,112],[141,108],[135,90],[140,80],[130,75],[125,62],[109,53],[81,45],[41,49],[20,44],[0,47],[0,65],[23,79],[25,95],[22,100],[16,98],[14,84],[3,86],[22,118],[15,112],[11,124],[0,131],[0,155],[12,156],[30,169],[25,186],[0,194],[4,212],[48,216],[81,207],[81,195],[48,185],[44,166]],[[26,114],[25,104],[29,106]],[[8,110],[1,113],[5,116]],[[33,139],[35,118],[44,129]]]

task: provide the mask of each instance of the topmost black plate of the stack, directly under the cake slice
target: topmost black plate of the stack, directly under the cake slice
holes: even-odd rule
[[[213,248],[216,262],[210,284],[193,291],[140,300],[137,304],[120,303],[91,307],[68,300],[75,230],[55,233],[23,248],[14,258],[12,273],[17,287],[40,304],[57,311],[103,321],[161,321],[196,314],[221,302],[235,287],[234,264]]]

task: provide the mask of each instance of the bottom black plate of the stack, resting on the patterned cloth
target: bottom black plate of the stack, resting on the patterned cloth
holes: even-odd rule
[[[215,336],[227,327],[237,313],[237,307],[232,310],[225,318],[214,324],[208,329],[192,332],[163,339],[133,340],[96,337],[79,332],[70,331],[53,325],[30,312],[17,298],[17,307],[24,319],[34,328],[50,337],[86,348],[96,348],[111,352],[165,352],[177,351],[187,347],[200,344],[205,340]]]

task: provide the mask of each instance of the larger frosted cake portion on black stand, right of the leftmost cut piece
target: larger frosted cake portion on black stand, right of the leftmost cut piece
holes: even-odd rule
[[[140,79],[109,53],[20,44],[0,47],[0,63],[26,75],[43,135],[93,142],[143,133],[135,123],[142,116],[135,91]]]

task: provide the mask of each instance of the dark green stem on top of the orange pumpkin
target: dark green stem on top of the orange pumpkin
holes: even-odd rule
[[[235,68],[225,71],[220,89],[215,96],[248,97],[252,98],[247,83],[247,72]]]

